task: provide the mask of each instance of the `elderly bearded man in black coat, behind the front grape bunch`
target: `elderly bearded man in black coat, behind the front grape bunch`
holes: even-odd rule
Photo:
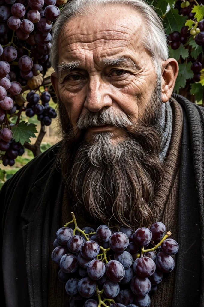
[[[69,306],[50,254],[71,211],[81,227],[162,221],[179,253],[151,307],[203,306],[204,111],[173,93],[159,17],[142,0],[73,0],[51,61],[63,140],[2,188],[6,306]]]

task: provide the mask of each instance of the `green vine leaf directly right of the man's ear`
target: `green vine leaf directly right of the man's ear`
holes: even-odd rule
[[[177,91],[179,93],[179,88],[180,87],[185,87],[186,85],[186,80],[193,78],[194,74],[193,71],[190,69],[191,67],[191,62],[189,63],[183,63],[179,64],[179,74],[176,79],[174,91]]]

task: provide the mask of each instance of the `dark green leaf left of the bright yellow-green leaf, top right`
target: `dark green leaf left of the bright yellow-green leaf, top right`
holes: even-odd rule
[[[178,14],[179,10],[172,9],[167,13],[164,18],[164,27],[166,29],[167,35],[174,31],[181,31],[181,28],[186,23],[188,16],[181,16]]]

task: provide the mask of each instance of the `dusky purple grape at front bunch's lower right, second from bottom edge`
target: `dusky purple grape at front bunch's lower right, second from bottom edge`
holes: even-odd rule
[[[135,275],[132,278],[131,286],[132,292],[137,296],[145,296],[151,290],[151,282],[149,278],[143,278]]]

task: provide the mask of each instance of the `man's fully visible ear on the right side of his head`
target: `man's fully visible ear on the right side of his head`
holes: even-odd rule
[[[162,102],[167,102],[173,93],[179,64],[174,58],[162,62]]]

